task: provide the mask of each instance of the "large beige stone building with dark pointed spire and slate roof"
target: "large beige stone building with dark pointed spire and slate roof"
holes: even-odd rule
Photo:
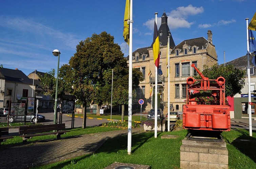
[[[167,47],[168,35],[170,35],[169,49]],[[160,94],[160,108],[163,109],[165,114],[168,112],[166,108],[168,107],[168,69],[166,65],[168,62],[168,50],[170,50],[170,104],[173,105],[174,111],[182,113],[182,105],[186,99],[186,79],[197,74],[191,65],[195,64],[197,68],[203,70],[203,65],[211,67],[218,61],[215,46],[213,45],[212,31],[208,30],[207,35],[208,39],[199,37],[183,40],[178,45],[175,45],[168,27],[168,17],[164,12],[158,29],[160,64],[157,84],[155,84],[156,76],[152,46],[137,49],[132,55],[133,68],[139,69],[145,78],[136,89],[137,100],[135,102],[139,99],[144,99],[146,103],[145,111],[149,111],[152,107],[152,95],[155,93],[155,87],[157,87],[157,91]],[[129,56],[127,60],[129,60]]]

